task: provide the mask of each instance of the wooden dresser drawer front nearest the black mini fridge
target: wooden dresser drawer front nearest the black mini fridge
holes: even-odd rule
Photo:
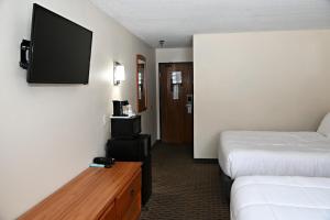
[[[141,170],[118,196],[117,213],[122,220],[136,220],[141,212]]]

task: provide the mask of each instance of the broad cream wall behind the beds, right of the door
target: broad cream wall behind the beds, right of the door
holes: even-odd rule
[[[330,31],[194,36],[194,154],[223,130],[316,130],[330,110]]]

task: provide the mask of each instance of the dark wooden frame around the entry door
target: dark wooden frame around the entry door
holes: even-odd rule
[[[194,62],[161,62],[158,63],[158,101],[160,101],[160,111],[158,111],[158,116],[160,116],[160,140],[161,142],[163,141],[163,132],[162,132],[162,96],[161,96],[161,91],[162,91],[162,84],[161,84],[161,65],[162,64],[191,64],[193,65],[193,109],[195,106],[195,88],[194,88]],[[194,118],[195,118],[195,111],[193,110],[193,146],[194,146]]]

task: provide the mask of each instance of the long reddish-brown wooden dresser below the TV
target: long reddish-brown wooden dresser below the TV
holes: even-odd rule
[[[141,163],[87,168],[30,209],[20,220],[136,220],[141,213]]]

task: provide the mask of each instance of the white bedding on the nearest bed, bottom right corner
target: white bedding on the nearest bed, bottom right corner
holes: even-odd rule
[[[329,220],[330,179],[246,176],[231,190],[231,220]]]

